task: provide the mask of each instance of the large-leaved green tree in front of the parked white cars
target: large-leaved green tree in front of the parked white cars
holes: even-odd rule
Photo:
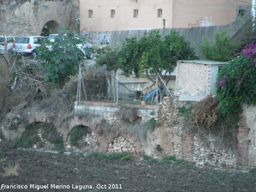
[[[83,37],[76,38],[77,33],[69,29],[55,37],[54,42],[46,43],[37,48],[40,54],[38,62],[45,67],[45,81],[52,84],[63,84],[68,76],[76,73],[80,62],[89,52]]]

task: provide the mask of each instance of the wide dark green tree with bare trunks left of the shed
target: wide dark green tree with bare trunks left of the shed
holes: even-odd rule
[[[170,34],[160,36],[159,30],[152,30],[145,33],[139,41],[136,37],[126,38],[119,52],[119,60],[124,76],[132,73],[136,77],[146,74],[148,79],[156,84],[149,75],[160,76],[168,84],[171,80],[171,73],[176,67],[177,60],[194,60],[194,49],[185,41],[184,36],[174,29]],[[160,100],[163,99],[166,87],[160,91]]]

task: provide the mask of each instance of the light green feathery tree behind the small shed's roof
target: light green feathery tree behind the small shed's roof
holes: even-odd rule
[[[228,36],[226,30],[216,33],[214,42],[209,41],[205,36],[203,36],[203,40],[204,44],[196,44],[202,56],[207,60],[230,60],[237,46],[229,43],[230,36]]]

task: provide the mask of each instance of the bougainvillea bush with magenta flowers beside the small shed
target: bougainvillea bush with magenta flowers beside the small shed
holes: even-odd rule
[[[256,104],[256,44],[219,70],[216,93],[221,115],[238,117],[243,102]]]

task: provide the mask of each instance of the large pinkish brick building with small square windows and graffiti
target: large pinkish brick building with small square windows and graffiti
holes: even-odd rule
[[[80,0],[80,31],[225,25],[252,10],[252,0]]]

